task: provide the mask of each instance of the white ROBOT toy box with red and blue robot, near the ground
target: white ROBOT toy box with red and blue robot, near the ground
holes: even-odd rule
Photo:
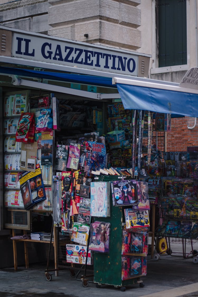
[[[77,244],[66,244],[66,260],[67,263],[85,264],[87,247]],[[93,252],[88,250],[87,265],[93,264]]]

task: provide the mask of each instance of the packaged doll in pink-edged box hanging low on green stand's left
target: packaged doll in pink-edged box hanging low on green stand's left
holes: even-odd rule
[[[89,249],[95,252],[109,253],[110,223],[95,221],[90,224]]]

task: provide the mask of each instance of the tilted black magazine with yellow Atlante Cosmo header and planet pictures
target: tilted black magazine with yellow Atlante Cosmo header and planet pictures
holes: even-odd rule
[[[19,175],[19,182],[25,209],[29,209],[34,204],[46,199],[39,164],[36,165],[35,172],[25,171],[21,173]]]

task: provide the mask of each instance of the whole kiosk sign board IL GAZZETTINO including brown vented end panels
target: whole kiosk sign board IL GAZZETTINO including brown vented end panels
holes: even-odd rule
[[[4,39],[9,39],[9,42],[4,42],[6,44],[4,51],[0,50],[2,56],[114,74],[148,76],[150,55],[12,28],[1,28],[0,26],[0,35],[5,36]]]

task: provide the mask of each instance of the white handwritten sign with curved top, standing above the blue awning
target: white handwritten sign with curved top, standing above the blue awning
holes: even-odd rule
[[[198,67],[190,68],[182,78],[180,87],[198,89]]]

